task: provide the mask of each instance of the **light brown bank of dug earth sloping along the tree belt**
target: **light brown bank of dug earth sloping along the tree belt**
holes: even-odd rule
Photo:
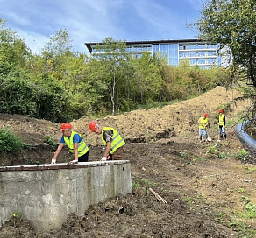
[[[174,103],[162,109],[139,109],[119,116],[98,119],[102,126],[116,128],[127,142],[146,142],[162,137],[175,137],[186,132],[197,131],[197,120],[204,112],[208,113],[210,123],[216,120],[217,108],[227,107],[229,117],[245,110],[249,101],[235,101],[240,96],[236,90],[226,91],[217,87],[199,97]],[[99,137],[89,130],[89,117],[74,120],[74,130],[81,133],[89,145],[102,144]],[[10,127],[28,144],[42,144],[46,136],[60,141],[61,123],[51,123],[27,116],[0,114],[0,126]]]

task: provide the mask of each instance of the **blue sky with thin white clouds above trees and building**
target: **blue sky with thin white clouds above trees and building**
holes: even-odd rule
[[[0,18],[33,53],[67,30],[78,52],[104,38],[144,41],[197,38],[188,24],[205,0],[0,0]]]

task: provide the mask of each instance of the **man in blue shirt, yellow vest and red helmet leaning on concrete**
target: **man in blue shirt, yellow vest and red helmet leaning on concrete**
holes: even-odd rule
[[[75,159],[70,161],[68,164],[87,162],[89,156],[89,147],[82,139],[82,136],[72,130],[72,125],[70,123],[63,123],[61,125],[61,131],[63,136],[61,137],[60,144],[55,151],[54,157],[52,158],[52,164],[56,164],[56,159],[64,144],[68,145],[69,151],[75,156]]]

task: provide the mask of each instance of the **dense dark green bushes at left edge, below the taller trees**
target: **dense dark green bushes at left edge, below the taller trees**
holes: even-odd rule
[[[66,118],[68,95],[53,81],[32,82],[20,69],[0,79],[0,112],[44,118],[53,122]]]

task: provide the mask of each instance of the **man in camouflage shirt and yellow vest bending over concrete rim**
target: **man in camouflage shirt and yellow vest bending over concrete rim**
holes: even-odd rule
[[[125,142],[117,130],[111,127],[102,128],[96,121],[89,123],[89,129],[91,132],[101,135],[103,144],[106,146],[101,161],[122,159]]]

